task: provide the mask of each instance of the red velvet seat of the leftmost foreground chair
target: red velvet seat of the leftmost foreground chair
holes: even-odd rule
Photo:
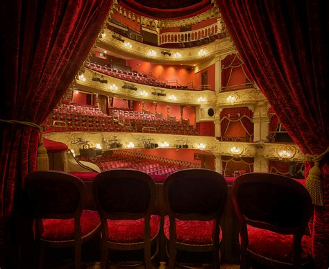
[[[44,226],[43,241],[74,241],[74,218],[44,219],[42,223]],[[101,225],[99,214],[91,210],[83,210],[80,223],[82,238],[94,232]]]

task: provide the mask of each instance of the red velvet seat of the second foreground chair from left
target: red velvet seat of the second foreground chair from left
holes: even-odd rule
[[[160,216],[151,215],[151,239],[160,231]],[[112,243],[144,242],[144,218],[138,220],[108,220],[108,241]]]

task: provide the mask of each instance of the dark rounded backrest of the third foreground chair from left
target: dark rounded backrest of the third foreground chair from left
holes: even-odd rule
[[[219,220],[227,193],[224,177],[202,168],[172,173],[163,186],[169,217],[182,220]]]

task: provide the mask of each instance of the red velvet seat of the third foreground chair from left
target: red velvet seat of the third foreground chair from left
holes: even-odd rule
[[[189,245],[212,244],[212,225],[214,220],[178,220],[176,219],[176,242]],[[165,216],[165,236],[169,240],[169,216]],[[219,232],[221,241],[221,232]]]

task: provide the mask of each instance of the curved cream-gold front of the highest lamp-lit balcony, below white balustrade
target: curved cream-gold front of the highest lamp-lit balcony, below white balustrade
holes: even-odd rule
[[[198,64],[212,59],[216,55],[226,54],[227,51],[234,51],[233,42],[230,42],[229,38],[223,38],[216,40],[210,44],[203,46],[196,46],[185,49],[164,49],[158,46],[150,46],[134,40],[128,39],[128,37],[122,37],[124,42],[121,42],[112,35],[117,35],[114,32],[105,29],[106,37],[103,37],[96,42],[96,45],[106,51],[112,51],[125,57],[131,57],[140,60],[146,60],[148,62],[160,62],[171,64]],[[131,44],[131,48],[124,46],[125,42]],[[200,53],[203,49],[204,53]],[[170,51],[171,56],[162,55],[161,51]],[[151,53],[154,51],[154,53]],[[177,54],[175,54],[177,53]],[[174,57],[174,55],[180,55]]]

